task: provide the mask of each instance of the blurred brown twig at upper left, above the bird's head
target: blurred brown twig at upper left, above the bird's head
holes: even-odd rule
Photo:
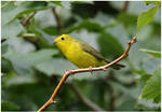
[[[53,12],[53,15],[56,19],[58,31],[60,31],[63,29],[63,25],[60,23],[60,17],[59,17],[58,13],[56,12],[56,8],[52,8],[52,12]]]

